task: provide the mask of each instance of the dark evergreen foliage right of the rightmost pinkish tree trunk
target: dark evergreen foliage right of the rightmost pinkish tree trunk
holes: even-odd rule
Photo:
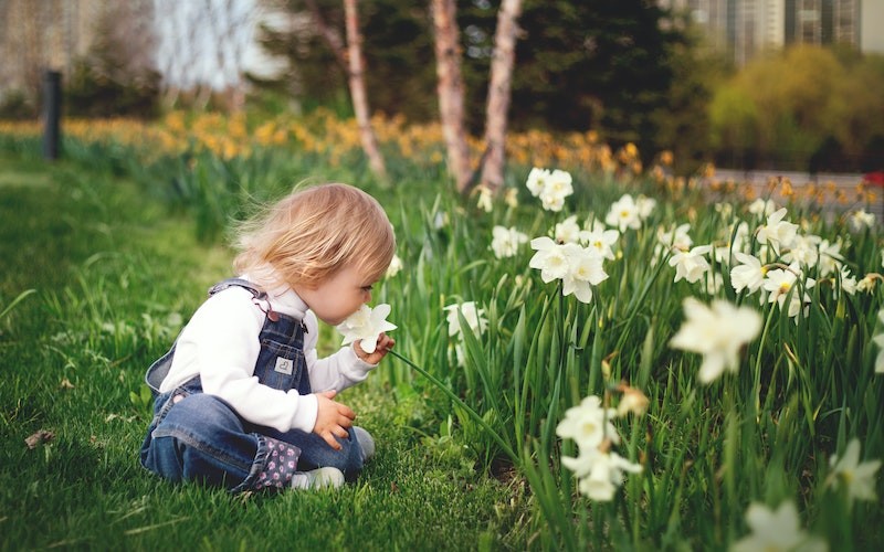
[[[652,148],[651,114],[665,105],[672,81],[663,12],[642,0],[530,1],[516,52],[516,125],[596,128],[609,141]]]

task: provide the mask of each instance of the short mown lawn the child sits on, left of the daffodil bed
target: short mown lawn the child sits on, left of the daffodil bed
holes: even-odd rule
[[[345,393],[378,455],[336,492],[232,496],[141,469],[144,370],[230,259],[133,182],[0,157],[0,312],[35,290],[0,319],[0,549],[527,545],[524,487],[438,436],[430,388]],[[41,429],[54,438],[30,449]]]

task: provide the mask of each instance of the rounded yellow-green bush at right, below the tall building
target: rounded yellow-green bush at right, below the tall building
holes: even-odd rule
[[[882,91],[878,57],[793,46],[748,64],[716,91],[712,145],[725,163],[857,170],[884,136]]]

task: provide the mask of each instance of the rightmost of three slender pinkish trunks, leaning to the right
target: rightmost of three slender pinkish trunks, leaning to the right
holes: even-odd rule
[[[488,103],[485,118],[486,153],[482,163],[482,185],[496,193],[504,183],[506,121],[509,109],[513,64],[516,57],[516,20],[522,0],[503,0],[497,12],[494,55],[491,62]]]

